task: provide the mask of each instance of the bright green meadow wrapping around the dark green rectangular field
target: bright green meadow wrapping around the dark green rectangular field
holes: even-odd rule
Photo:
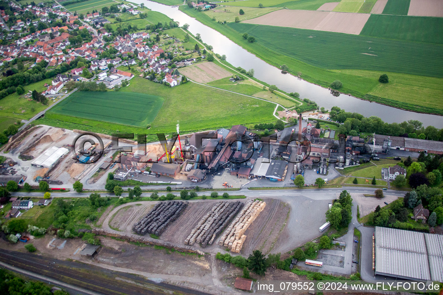
[[[55,111],[49,111],[44,118],[37,123],[48,124],[67,129],[81,129],[106,134],[120,132],[156,134],[175,132],[176,124],[180,124],[180,130],[191,132],[208,130],[220,127],[230,127],[236,124],[251,125],[256,123],[275,122],[272,116],[275,104],[239,94],[216,90],[206,86],[188,82],[173,88],[162,84],[148,81],[141,77],[134,77],[128,87],[115,92],[118,95],[131,95],[131,92],[141,92],[146,95],[155,93],[164,97],[163,107],[160,109],[151,128],[125,126],[99,121],[99,119],[82,119],[72,115],[61,115]],[[113,93],[113,92],[110,92]],[[140,96],[140,93],[137,94]],[[210,107],[211,106],[211,107]],[[140,105],[139,105],[140,107]],[[148,141],[156,141],[155,135],[148,136]]]

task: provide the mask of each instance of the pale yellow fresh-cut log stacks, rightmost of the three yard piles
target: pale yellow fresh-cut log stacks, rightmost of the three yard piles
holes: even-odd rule
[[[250,200],[243,210],[231,223],[225,233],[221,236],[219,244],[228,247],[231,252],[240,253],[245,242],[245,231],[253,223],[255,218],[263,211],[266,202]]]

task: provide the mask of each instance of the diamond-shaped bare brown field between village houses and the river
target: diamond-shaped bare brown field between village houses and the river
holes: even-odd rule
[[[213,62],[204,62],[191,66],[187,66],[179,70],[180,73],[189,77],[198,83],[208,83],[219,80],[221,78],[232,76],[231,73],[222,69]]]

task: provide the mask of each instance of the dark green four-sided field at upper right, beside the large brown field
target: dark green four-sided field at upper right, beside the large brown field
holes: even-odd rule
[[[443,44],[443,18],[373,14],[360,35]]]

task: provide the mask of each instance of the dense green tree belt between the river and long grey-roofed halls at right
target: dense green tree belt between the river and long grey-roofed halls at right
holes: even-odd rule
[[[375,132],[389,136],[443,141],[443,129],[439,130],[434,126],[424,128],[423,123],[418,120],[385,123],[377,116],[366,118],[358,113],[346,112],[339,107],[332,107],[329,116],[332,120],[344,123],[338,127],[339,134],[356,136],[359,132]]]

